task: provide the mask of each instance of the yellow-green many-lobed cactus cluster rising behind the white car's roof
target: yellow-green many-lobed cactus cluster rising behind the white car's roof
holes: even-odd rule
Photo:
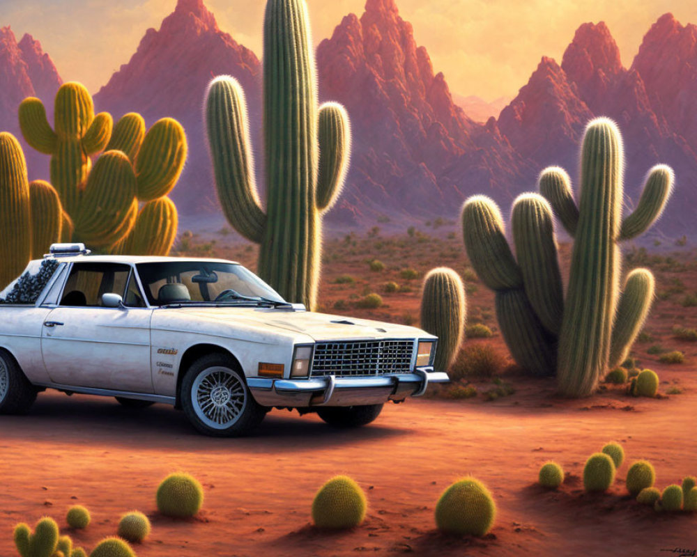
[[[129,113],[112,130],[112,117],[105,112],[95,116],[92,97],[75,82],[63,84],[56,94],[54,128],[37,98],[26,98],[19,114],[27,143],[51,155],[52,187],[47,182],[33,187],[32,207],[41,215],[49,212],[51,227],[42,228],[37,246],[61,237],[116,253],[169,252],[177,217],[166,196],[176,185],[187,151],[176,120],[162,118],[146,133],[143,118]],[[91,157],[103,150],[92,165]],[[139,203],[144,203],[140,211]],[[43,226],[46,222],[41,217]]]

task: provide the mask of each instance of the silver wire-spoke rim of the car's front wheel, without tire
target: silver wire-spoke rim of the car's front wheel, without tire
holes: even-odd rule
[[[222,366],[201,371],[190,394],[194,413],[214,430],[226,430],[234,425],[247,407],[247,389],[242,377]]]

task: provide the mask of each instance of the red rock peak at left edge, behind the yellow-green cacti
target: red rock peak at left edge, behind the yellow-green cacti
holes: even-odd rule
[[[63,81],[40,42],[25,34],[17,42],[10,26],[0,28],[0,131],[20,139],[29,167],[29,178],[48,177],[48,158],[24,143],[17,109],[26,97],[39,97],[46,104],[49,118],[53,99]]]

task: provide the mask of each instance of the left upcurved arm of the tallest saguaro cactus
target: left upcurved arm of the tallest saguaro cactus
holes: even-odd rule
[[[210,82],[206,132],[222,210],[241,235],[259,243],[266,214],[254,184],[245,95],[236,79],[221,76]]]

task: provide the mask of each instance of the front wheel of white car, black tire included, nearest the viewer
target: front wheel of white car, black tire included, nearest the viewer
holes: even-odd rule
[[[254,400],[236,361],[225,354],[194,361],[181,382],[180,400],[196,430],[211,437],[246,435],[268,411]]]

